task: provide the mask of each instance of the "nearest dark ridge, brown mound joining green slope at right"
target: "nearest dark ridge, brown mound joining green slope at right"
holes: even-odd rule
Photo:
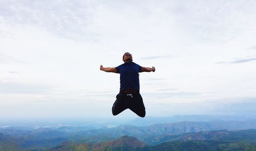
[[[66,149],[83,150],[256,150],[256,130],[244,131],[207,131],[182,134],[173,137],[172,141],[158,145],[145,145],[134,137],[122,136],[113,141],[98,144],[69,144],[51,149],[59,151]],[[67,144],[67,143],[66,143]]]

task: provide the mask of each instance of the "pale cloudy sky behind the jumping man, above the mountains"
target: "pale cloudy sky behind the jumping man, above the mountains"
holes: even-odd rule
[[[146,116],[253,114],[256,1],[0,0],[0,118],[113,116],[133,61]]]

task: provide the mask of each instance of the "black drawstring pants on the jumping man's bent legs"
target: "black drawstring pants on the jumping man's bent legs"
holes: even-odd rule
[[[120,91],[116,95],[116,101],[112,107],[113,115],[117,115],[126,109],[132,110],[140,117],[145,117],[146,111],[139,91],[135,93]]]

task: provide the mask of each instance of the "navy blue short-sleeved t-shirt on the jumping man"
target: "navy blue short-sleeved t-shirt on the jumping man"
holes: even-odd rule
[[[139,70],[141,66],[134,62],[127,62],[116,67],[120,73],[120,91],[126,89],[140,90]]]

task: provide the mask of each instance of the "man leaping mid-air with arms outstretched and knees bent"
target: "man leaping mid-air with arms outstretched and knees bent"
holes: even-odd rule
[[[117,115],[126,109],[132,110],[140,117],[145,117],[145,107],[140,95],[139,72],[155,72],[155,67],[141,67],[133,62],[132,54],[123,55],[123,64],[118,67],[103,67],[100,70],[105,72],[120,73],[120,92],[112,107],[113,115]]]

